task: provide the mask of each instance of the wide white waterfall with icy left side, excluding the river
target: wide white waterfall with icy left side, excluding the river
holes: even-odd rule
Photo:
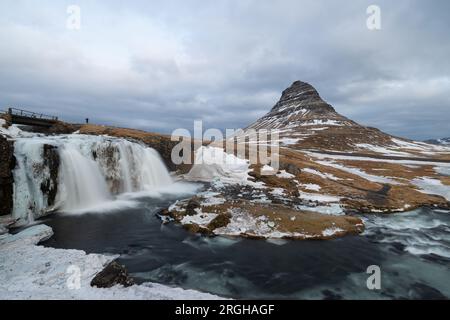
[[[51,152],[57,161],[49,160]],[[122,193],[157,191],[172,184],[156,150],[121,138],[17,138],[14,155],[13,216],[22,223],[49,210],[89,210]]]

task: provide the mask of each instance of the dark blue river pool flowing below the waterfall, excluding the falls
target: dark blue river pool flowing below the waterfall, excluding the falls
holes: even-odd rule
[[[449,212],[365,216],[363,235],[335,240],[249,240],[161,224],[155,213],[176,198],[143,197],[134,208],[103,214],[54,215],[45,223],[55,235],[43,245],[119,254],[137,282],[231,298],[450,297]],[[370,265],[381,269],[380,290],[367,288]]]

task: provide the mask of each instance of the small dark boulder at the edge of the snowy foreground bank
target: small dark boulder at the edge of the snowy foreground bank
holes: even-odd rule
[[[108,264],[91,281],[91,287],[111,288],[115,285],[129,287],[134,284],[134,280],[128,275],[124,266],[116,261]]]

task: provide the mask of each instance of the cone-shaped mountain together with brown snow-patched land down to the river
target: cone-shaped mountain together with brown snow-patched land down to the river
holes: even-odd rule
[[[259,129],[278,131],[280,148],[271,153],[278,161],[251,157],[250,146],[273,146],[251,140]],[[246,152],[229,149],[233,140]],[[361,213],[450,208],[450,148],[358,124],[302,81],[265,116],[203,146],[195,159],[184,178],[206,189],[160,214],[207,235],[329,239],[362,232]]]

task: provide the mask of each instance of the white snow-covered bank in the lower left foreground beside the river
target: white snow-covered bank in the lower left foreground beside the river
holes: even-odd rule
[[[0,299],[220,299],[194,290],[144,283],[128,288],[90,286],[92,278],[117,256],[37,246],[52,234],[36,225],[16,235],[0,236]],[[79,274],[79,286],[77,279]]]

